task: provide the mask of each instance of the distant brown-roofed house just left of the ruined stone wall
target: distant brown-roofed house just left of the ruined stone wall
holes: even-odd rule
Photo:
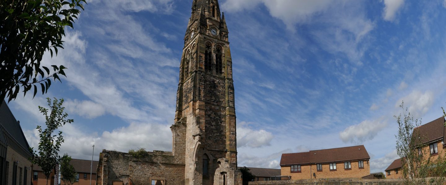
[[[91,185],[96,184],[96,169],[98,167],[98,161],[93,161],[92,171],[90,160],[71,159],[70,164],[73,165],[74,171],[76,171],[76,179],[78,181],[73,185],[90,185],[90,172]],[[65,185],[65,182],[61,181],[61,185]]]

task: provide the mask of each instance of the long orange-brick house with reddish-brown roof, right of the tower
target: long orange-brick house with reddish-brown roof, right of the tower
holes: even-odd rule
[[[370,156],[363,145],[282,154],[281,175],[291,176],[293,180],[360,178],[370,174],[369,160]]]

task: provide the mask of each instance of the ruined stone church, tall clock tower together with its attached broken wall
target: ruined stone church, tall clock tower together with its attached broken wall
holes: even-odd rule
[[[241,185],[232,59],[218,0],[193,0],[177,91],[173,152],[103,150],[98,185]]]

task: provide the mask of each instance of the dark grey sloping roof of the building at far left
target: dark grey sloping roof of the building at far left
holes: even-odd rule
[[[3,103],[0,106],[0,126],[3,129],[3,132],[6,135],[0,136],[0,141],[7,143],[7,137],[11,137],[18,145],[21,146],[23,150],[26,150],[26,153],[29,153],[29,144],[26,141],[25,134],[23,134],[22,128],[20,124],[17,122],[16,118],[12,114],[11,110],[8,107],[8,104],[3,100]],[[12,147],[14,148],[14,147]],[[18,151],[17,151],[18,152]]]

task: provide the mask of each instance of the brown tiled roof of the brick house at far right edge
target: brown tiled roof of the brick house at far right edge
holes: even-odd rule
[[[421,135],[422,143],[433,142],[444,137],[446,132],[444,123],[444,117],[440,117],[432,122],[418,126],[417,128],[413,129],[413,133]]]

